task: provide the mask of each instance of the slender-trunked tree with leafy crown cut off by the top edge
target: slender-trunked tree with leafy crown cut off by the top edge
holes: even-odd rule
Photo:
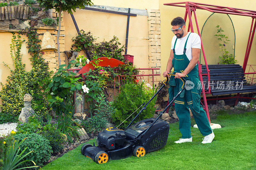
[[[92,5],[91,0],[76,0],[76,1],[68,1],[68,0],[37,0],[39,3],[39,6],[44,8],[45,11],[49,9],[55,8],[57,12],[59,12],[59,16],[61,16],[61,11],[68,11],[68,13],[73,13],[73,11],[76,12],[76,7],[79,7],[80,9],[83,8],[85,5]],[[58,21],[58,35],[57,35],[57,48],[58,48],[58,59],[59,59],[59,67],[60,67],[60,42],[59,42],[59,37],[60,37],[60,18]]]

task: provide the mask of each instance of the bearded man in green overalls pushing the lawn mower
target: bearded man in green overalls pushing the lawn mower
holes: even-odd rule
[[[214,134],[200,104],[202,86],[199,81],[197,62],[200,55],[201,39],[196,33],[187,32],[185,24],[181,17],[174,18],[171,22],[171,30],[175,36],[172,38],[170,57],[166,71],[163,73],[163,76],[166,77],[172,67],[174,68],[175,77],[171,76],[169,81],[169,101],[180,91],[182,86],[180,77],[184,77],[190,84],[190,86],[186,86],[185,92],[183,91],[174,101],[179,118],[179,130],[182,134],[182,137],[175,143],[192,142],[188,107],[192,111],[199,131],[205,136],[202,143],[211,143]]]

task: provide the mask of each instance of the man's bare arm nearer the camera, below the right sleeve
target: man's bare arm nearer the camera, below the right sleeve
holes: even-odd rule
[[[188,67],[183,71],[183,73],[176,73],[175,78],[185,77],[199,61],[200,49],[199,48],[191,48],[192,59],[190,60]]]

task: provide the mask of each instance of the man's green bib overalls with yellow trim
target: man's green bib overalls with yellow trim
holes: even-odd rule
[[[190,34],[190,33],[189,33]],[[189,37],[188,34],[188,37]],[[186,45],[188,38],[186,40],[184,51],[182,55],[175,54],[175,45],[177,39],[175,40],[173,47],[174,58],[172,60],[172,66],[174,68],[174,74],[177,72],[183,73],[183,71],[188,67],[189,60],[186,56]],[[189,109],[192,111],[193,117],[196,121],[199,131],[203,136],[212,133],[212,129],[206,117],[206,113],[200,104],[200,94],[202,90],[201,82],[199,81],[198,66],[196,65],[188,74],[184,77],[186,80],[186,89],[176,98],[174,101],[174,107],[176,114],[179,118],[179,130],[182,134],[181,138],[191,138],[190,131],[190,114]],[[170,77],[170,88],[169,88],[169,101],[173,99],[180,91],[182,86],[182,81],[180,79]]]

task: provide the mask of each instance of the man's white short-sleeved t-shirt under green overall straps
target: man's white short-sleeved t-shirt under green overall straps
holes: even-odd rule
[[[189,34],[189,32],[188,32],[188,34]],[[174,35],[172,38],[171,49],[173,50],[175,40],[177,39],[176,46],[175,46],[175,54],[182,55],[186,40],[188,38],[187,47],[186,47],[187,48],[186,55],[188,57],[188,60],[190,61],[192,59],[191,48],[201,49],[201,39],[200,39],[199,35],[194,32],[190,33],[189,37],[188,37],[188,34],[185,37],[182,37],[180,39],[177,39],[176,35]]]

